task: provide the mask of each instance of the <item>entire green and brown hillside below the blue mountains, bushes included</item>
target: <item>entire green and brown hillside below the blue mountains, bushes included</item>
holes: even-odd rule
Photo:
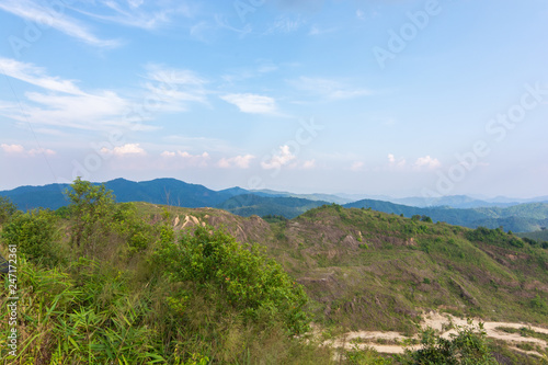
[[[287,334],[311,320],[321,339],[375,330],[411,341],[430,310],[548,327],[548,250],[500,229],[339,205],[269,224],[114,204],[101,186],[78,184],[69,209],[16,213],[2,225],[0,251],[18,247],[18,295],[28,303],[19,309],[26,362],[332,364],[330,347]],[[77,193],[85,191],[102,197]],[[503,364],[534,363],[490,346]]]

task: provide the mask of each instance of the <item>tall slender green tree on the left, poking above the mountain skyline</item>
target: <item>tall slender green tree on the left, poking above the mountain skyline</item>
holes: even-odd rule
[[[70,212],[73,218],[72,243],[82,247],[85,252],[94,253],[98,246],[109,235],[114,214],[114,196],[104,184],[93,185],[89,181],[77,178],[65,191],[70,199]]]

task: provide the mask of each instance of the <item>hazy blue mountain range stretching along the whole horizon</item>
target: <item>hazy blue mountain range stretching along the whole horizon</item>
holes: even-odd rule
[[[352,195],[294,194],[271,190],[249,191],[231,187],[214,191],[199,184],[190,184],[175,179],[156,179],[133,182],[116,179],[104,183],[112,190],[117,202],[146,202],[180,207],[216,207],[240,216],[275,215],[292,219],[322,205],[343,204],[349,208],[372,208],[373,210],[403,215],[404,217],[427,216],[434,223],[445,221],[469,228],[484,226],[503,227],[515,232],[540,230],[548,226],[548,197],[534,199],[511,199],[496,197],[493,202],[466,195],[438,198],[407,197],[352,201]],[[0,192],[20,209],[37,207],[57,209],[68,204],[64,191],[68,184],[45,186],[20,186]],[[400,204],[398,204],[400,202]],[[525,203],[523,202],[535,202]],[[404,204],[402,204],[404,203]]]

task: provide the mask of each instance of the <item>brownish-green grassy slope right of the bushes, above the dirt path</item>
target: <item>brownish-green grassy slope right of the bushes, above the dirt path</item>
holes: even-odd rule
[[[441,309],[548,326],[548,251],[513,247],[505,233],[470,242],[467,228],[340,206],[271,225],[207,208],[184,215],[266,246],[327,324],[412,332],[422,309]]]

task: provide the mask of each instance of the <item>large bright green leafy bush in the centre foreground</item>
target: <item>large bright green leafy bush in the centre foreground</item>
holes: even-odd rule
[[[173,242],[169,235],[157,261],[172,281],[192,282],[199,289],[222,293],[244,318],[279,318],[293,333],[307,330],[307,296],[258,246],[241,246],[210,227],[198,227]]]

